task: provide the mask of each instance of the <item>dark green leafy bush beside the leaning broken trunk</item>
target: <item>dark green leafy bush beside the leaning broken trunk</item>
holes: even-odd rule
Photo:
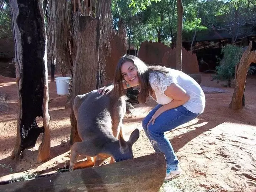
[[[213,76],[214,80],[227,81],[231,86],[231,80],[235,77],[235,66],[239,63],[242,56],[242,48],[231,44],[222,49],[223,58],[219,66],[216,67],[217,73]]]

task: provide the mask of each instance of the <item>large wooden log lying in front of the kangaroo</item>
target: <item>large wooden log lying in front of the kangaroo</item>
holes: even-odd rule
[[[158,191],[166,175],[163,153],[1,185],[1,192]]]

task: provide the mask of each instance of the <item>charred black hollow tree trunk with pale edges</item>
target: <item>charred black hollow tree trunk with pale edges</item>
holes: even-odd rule
[[[21,151],[32,148],[43,133],[37,161],[50,156],[48,113],[48,73],[46,59],[46,31],[42,0],[10,1],[18,86],[17,140],[12,159],[20,159]],[[36,117],[43,118],[38,127]]]

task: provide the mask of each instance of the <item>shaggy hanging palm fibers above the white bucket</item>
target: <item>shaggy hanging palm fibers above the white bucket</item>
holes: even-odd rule
[[[72,71],[70,62],[71,15],[69,1],[51,0],[48,9],[47,55],[62,76]]]

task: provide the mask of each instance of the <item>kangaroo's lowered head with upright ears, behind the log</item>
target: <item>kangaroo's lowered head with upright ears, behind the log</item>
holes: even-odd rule
[[[138,138],[139,138],[139,129],[135,129],[132,132],[127,142],[120,135],[119,149],[121,151],[121,154],[115,158],[116,162],[127,160],[127,159],[133,159],[132,145],[138,140]]]

